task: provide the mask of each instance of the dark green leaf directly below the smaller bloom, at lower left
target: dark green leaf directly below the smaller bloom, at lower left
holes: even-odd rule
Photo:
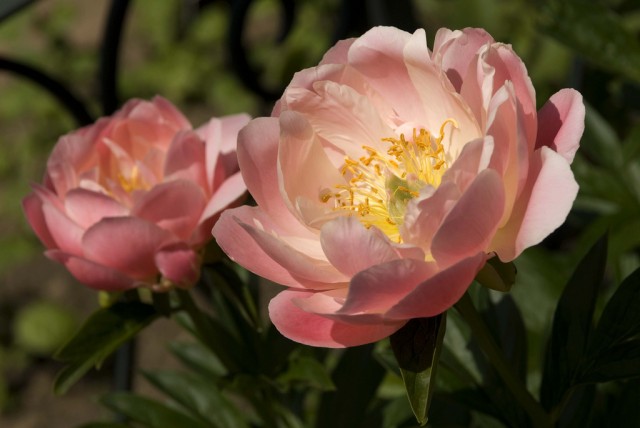
[[[154,308],[140,302],[120,302],[94,312],[71,340],[54,356],[68,365],[54,382],[56,394],[64,394],[92,367],[158,317]]]

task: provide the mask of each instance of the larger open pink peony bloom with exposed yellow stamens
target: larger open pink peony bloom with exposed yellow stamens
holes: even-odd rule
[[[374,28],[297,73],[239,135],[258,206],[214,227],[232,259],[289,289],[280,332],[324,347],[437,315],[489,257],[513,260],[566,218],[584,127],[574,90],[536,112],[527,70],[480,29]]]

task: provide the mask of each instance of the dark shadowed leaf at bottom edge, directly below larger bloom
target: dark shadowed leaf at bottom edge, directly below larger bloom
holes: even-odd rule
[[[385,371],[371,356],[373,345],[348,348],[340,356],[331,377],[335,391],[320,399],[317,428],[355,428],[361,426]]]

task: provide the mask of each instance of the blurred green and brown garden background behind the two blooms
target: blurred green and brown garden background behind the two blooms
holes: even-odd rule
[[[241,111],[268,114],[272,104],[247,90],[229,66],[229,5],[213,2],[185,20],[186,3],[132,2],[118,75],[122,101],[161,94],[194,126]],[[341,2],[296,1],[296,21],[283,43],[276,42],[279,3],[254,3],[244,41],[262,83],[277,91],[293,72],[317,63],[330,46]],[[405,3],[411,8],[397,10]],[[97,54],[108,4],[36,1],[0,22],[0,55],[60,80],[97,117]],[[543,246],[517,261],[513,294],[531,333],[535,388],[542,340],[560,287],[579,257],[609,230],[611,282],[639,265],[640,6],[624,0],[594,0],[588,8],[578,0],[414,0],[394,7],[394,16],[406,17],[406,26],[417,23],[426,29],[430,45],[438,28],[466,26],[484,27],[496,40],[511,43],[527,64],[539,107],[568,86],[583,92],[588,103],[585,137],[574,163],[581,185],[574,211]],[[48,356],[95,309],[97,298],[41,255],[20,206],[29,183],[40,181],[57,138],[75,127],[49,94],[0,72],[0,426],[57,427],[91,420],[101,410],[87,403],[87,395],[108,388],[104,370],[66,397],[50,392],[57,366]],[[603,301],[610,291],[605,290]],[[140,359],[162,364],[153,359],[164,349],[153,334],[153,329],[145,333],[151,350],[143,350]],[[62,416],[64,403],[74,409],[72,416]]]

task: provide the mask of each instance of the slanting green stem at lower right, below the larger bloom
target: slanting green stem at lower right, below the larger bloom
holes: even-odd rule
[[[456,309],[469,325],[476,342],[489,361],[491,361],[491,364],[494,366],[509,391],[511,391],[515,399],[531,418],[533,426],[536,428],[551,427],[552,423],[549,415],[545,412],[540,403],[533,398],[529,390],[527,390],[526,386],[520,381],[520,379],[518,379],[516,374],[513,372],[512,367],[505,360],[504,354],[493,339],[489,328],[476,310],[468,293],[465,293],[460,301],[458,301]]]

